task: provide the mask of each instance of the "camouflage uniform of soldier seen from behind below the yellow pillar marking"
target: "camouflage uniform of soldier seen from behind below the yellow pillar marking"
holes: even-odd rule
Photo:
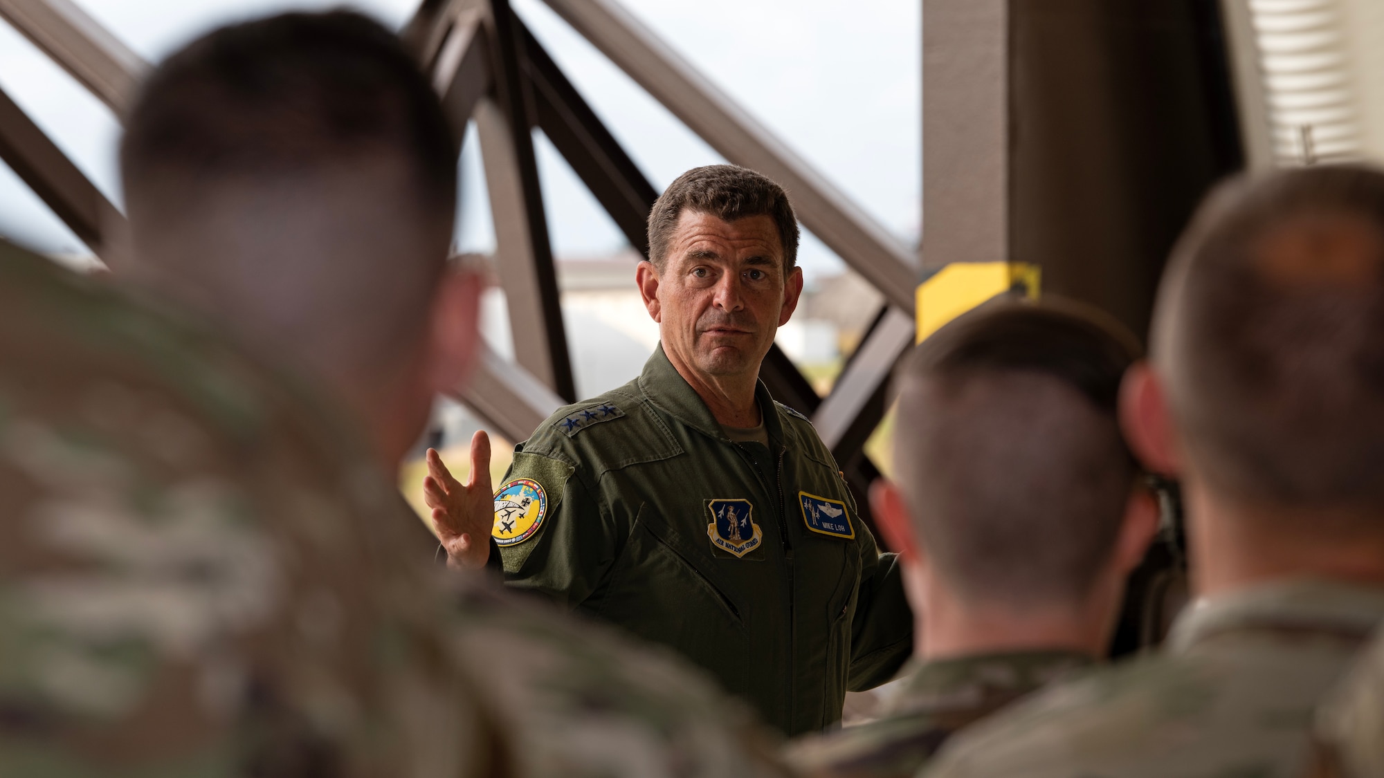
[[[907,778],[956,730],[1089,664],[1088,656],[1066,651],[926,662],[908,674],[877,721],[797,741],[787,761],[807,775]]]

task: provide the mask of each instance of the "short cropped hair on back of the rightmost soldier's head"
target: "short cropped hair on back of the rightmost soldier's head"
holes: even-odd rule
[[[1222,186],[1176,252],[1153,354],[1190,465],[1259,504],[1384,508],[1384,172]]]

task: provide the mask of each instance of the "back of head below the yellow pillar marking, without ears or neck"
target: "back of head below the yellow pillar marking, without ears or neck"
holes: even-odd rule
[[[1093,311],[996,300],[900,368],[895,480],[959,595],[1085,602],[1138,476],[1116,415],[1138,352]]]

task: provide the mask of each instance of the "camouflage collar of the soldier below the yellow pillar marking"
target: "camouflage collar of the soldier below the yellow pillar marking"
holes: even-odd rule
[[[1075,651],[1013,651],[926,660],[886,705],[886,716],[987,709],[1092,664]]]

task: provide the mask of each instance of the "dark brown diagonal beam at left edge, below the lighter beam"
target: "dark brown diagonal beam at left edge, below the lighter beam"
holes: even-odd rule
[[[0,159],[91,252],[111,264],[107,237],[125,216],[43,130],[0,90]]]

